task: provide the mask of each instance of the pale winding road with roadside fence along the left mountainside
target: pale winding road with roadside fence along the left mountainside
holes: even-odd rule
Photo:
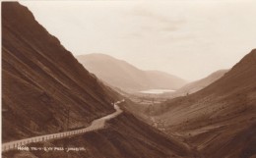
[[[91,126],[85,128],[85,129],[74,130],[74,131],[70,131],[70,132],[57,132],[57,133],[34,136],[34,137],[30,137],[30,138],[25,138],[25,139],[2,143],[2,152],[5,152],[5,151],[11,150],[11,149],[16,149],[19,146],[23,146],[23,145],[26,145],[26,144],[29,144],[32,142],[39,142],[39,141],[63,138],[63,137],[71,136],[71,135],[81,134],[81,133],[85,133],[85,132],[94,132],[94,131],[103,129],[103,128],[105,128],[105,121],[115,118],[116,116],[118,116],[119,114],[121,114],[123,112],[117,104],[120,104],[121,102],[124,102],[124,101],[125,100],[123,99],[121,101],[115,102],[114,109],[116,111],[114,113],[104,116],[102,118],[96,119],[95,121],[92,122]]]

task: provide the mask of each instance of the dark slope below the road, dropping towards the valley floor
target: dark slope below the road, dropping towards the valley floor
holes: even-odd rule
[[[84,151],[9,151],[4,158],[192,158],[199,157],[184,144],[125,113],[108,123],[108,128],[75,137],[36,143],[40,147],[83,147]]]

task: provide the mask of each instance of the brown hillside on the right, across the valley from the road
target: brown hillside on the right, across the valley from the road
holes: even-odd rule
[[[156,117],[207,158],[256,156],[256,50],[222,79],[162,104]]]

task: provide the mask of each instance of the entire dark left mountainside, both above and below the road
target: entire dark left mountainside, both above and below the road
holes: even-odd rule
[[[120,99],[119,95],[79,64],[56,37],[34,20],[28,8],[18,2],[3,2],[2,25],[3,142],[84,128],[114,111],[110,103]],[[187,144],[166,136],[128,111],[108,121],[103,130],[27,145],[85,150],[9,150],[2,157],[192,158],[197,155]]]

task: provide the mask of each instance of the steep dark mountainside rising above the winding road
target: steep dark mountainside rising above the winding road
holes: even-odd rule
[[[114,111],[110,90],[19,3],[2,3],[2,42],[3,141],[87,126]]]

